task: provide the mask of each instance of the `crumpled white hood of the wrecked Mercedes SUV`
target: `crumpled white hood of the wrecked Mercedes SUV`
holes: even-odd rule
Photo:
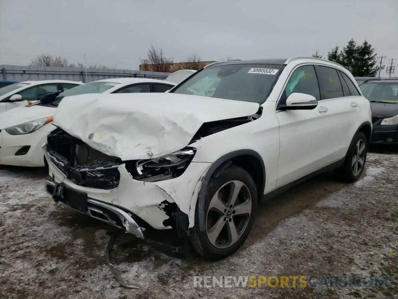
[[[62,100],[54,124],[122,160],[150,159],[189,144],[204,122],[254,114],[259,104],[173,93],[81,94]]]

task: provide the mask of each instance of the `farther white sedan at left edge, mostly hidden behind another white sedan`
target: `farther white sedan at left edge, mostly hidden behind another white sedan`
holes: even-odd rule
[[[82,84],[68,80],[42,80],[7,85],[0,88],[0,113],[25,106],[28,102],[36,102],[49,92],[63,92]]]

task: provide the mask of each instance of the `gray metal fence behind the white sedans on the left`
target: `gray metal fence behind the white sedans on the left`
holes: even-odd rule
[[[168,75],[170,75],[170,73],[127,69],[87,69],[86,74],[85,69],[80,67],[31,67],[19,65],[0,65],[0,80],[4,81],[62,79],[70,81],[82,81],[86,83],[101,79],[121,77],[164,80]]]

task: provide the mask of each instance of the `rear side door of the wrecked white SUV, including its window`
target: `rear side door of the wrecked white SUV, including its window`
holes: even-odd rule
[[[316,65],[315,71],[321,91],[319,105],[328,109],[327,122],[333,128],[329,132],[330,138],[326,141],[325,159],[328,163],[333,163],[345,157],[351,143],[352,128],[357,122],[355,116],[358,102],[355,96],[351,96],[351,92],[347,92],[347,82],[341,82],[344,74],[340,70]]]

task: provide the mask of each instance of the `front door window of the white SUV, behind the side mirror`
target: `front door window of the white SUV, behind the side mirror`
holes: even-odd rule
[[[285,87],[283,99],[286,100],[293,92],[310,94],[320,100],[318,80],[312,65],[298,67],[293,72]]]

